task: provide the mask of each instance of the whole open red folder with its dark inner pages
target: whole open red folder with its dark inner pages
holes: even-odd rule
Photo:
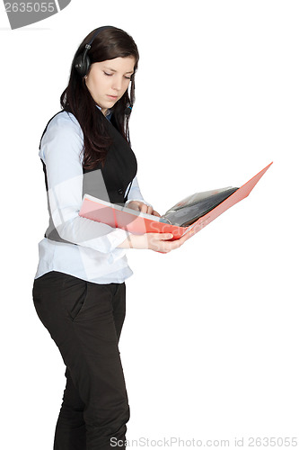
[[[113,228],[126,229],[133,234],[171,233],[173,239],[178,239],[190,229],[195,232],[203,229],[224,211],[247,197],[271,164],[239,188],[227,187],[189,195],[172,206],[162,217],[105,202],[89,194],[84,195],[79,215]]]

